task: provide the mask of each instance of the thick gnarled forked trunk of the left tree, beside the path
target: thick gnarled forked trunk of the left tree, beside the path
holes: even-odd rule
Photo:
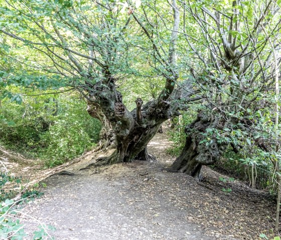
[[[102,99],[100,104],[96,99],[88,101],[88,113],[102,123],[100,132],[102,148],[114,143],[116,149],[111,156],[97,159],[97,164],[129,162],[134,159],[154,160],[154,156],[147,151],[147,144],[157,133],[161,123],[167,119],[166,110],[169,104],[159,105],[157,101],[152,101],[142,107],[142,99],[137,99],[136,108],[128,112],[122,104],[121,94],[114,89],[114,86],[112,87],[113,91],[106,95],[108,97],[113,93],[108,101]],[[99,91],[99,93],[104,92]]]

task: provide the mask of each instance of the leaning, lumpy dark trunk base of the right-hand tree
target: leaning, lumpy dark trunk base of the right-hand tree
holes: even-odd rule
[[[217,121],[212,121],[208,117],[202,116],[202,112],[197,119],[186,126],[186,142],[180,156],[175,160],[169,171],[184,172],[194,178],[201,180],[202,165],[211,165],[219,160],[224,149],[223,144],[219,144],[215,137],[210,136],[207,142],[200,143],[206,136],[202,133],[207,128],[216,127]]]

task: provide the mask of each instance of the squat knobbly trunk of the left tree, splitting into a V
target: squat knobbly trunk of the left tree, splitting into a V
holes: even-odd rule
[[[106,111],[107,118],[113,117],[112,128],[115,135],[116,150],[111,156],[98,159],[99,164],[129,162],[134,159],[154,160],[148,153],[147,144],[159,130],[161,123],[172,114],[168,101],[157,100],[143,106],[142,99],[137,99],[136,108],[129,112],[122,104],[121,94],[116,91],[114,115]],[[112,104],[109,104],[112,106]],[[173,108],[177,114],[176,108]]]

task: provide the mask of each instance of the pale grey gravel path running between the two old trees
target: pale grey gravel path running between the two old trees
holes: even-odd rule
[[[149,150],[157,158],[163,157],[168,143],[158,135]],[[161,168],[172,160],[135,161],[100,173],[87,169],[74,176],[51,176],[45,181],[44,197],[25,206],[23,212],[55,226],[57,230],[51,234],[60,240],[218,239],[188,221],[187,212],[196,209],[177,206],[176,199],[182,197],[178,195],[187,192],[169,193],[166,182],[177,180],[177,174]],[[34,227],[27,223],[29,232]]]

